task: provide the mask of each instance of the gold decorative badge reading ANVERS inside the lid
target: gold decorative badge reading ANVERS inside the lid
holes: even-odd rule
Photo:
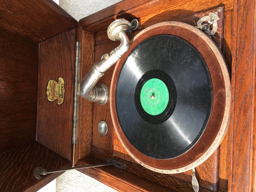
[[[50,79],[47,84],[47,99],[50,102],[58,100],[57,104],[61,105],[64,101],[64,79],[62,77],[58,78],[59,82]]]

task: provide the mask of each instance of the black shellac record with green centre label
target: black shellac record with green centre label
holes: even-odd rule
[[[211,107],[207,65],[182,38],[150,37],[125,60],[116,110],[126,138],[144,155],[170,159],[186,153],[205,131]]]

